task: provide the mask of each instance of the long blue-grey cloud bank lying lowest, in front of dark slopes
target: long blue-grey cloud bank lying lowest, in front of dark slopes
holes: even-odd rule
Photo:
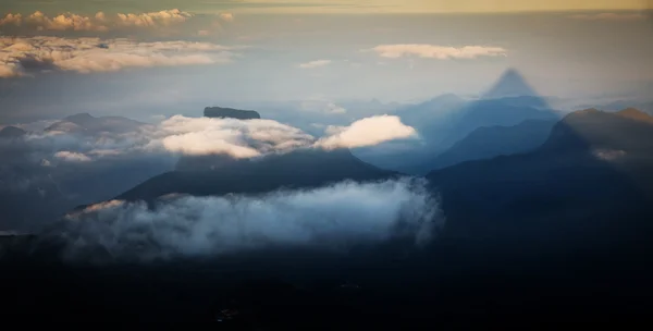
[[[402,179],[261,196],[109,201],[69,214],[51,235],[64,256],[119,260],[211,257],[273,247],[334,249],[395,237],[427,243],[444,222],[424,180]]]

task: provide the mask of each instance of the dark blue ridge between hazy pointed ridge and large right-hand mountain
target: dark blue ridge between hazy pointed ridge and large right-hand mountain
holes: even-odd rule
[[[423,168],[438,170],[464,161],[530,151],[544,144],[555,121],[527,120],[514,126],[483,126],[471,132]]]

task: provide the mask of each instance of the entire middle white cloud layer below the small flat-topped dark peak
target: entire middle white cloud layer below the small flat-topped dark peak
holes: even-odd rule
[[[50,151],[50,155],[42,156],[48,161],[88,162],[144,154],[227,155],[245,159],[289,152],[298,148],[357,148],[417,137],[415,128],[403,124],[398,117],[393,115],[366,118],[349,126],[328,126],[326,135],[320,139],[273,120],[241,121],[174,115],[156,125],[138,127],[120,121],[94,125],[101,130],[94,131],[72,122],[61,122],[48,132],[27,135],[26,142],[44,152]],[[51,156],[53,158],[49,159]]]

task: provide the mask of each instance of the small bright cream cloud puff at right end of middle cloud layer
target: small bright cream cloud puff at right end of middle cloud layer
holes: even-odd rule
[[[330,136],[318,140],[316,146],[326,149],[355,148],[417,136],[415,128],[405,125],[398,117],[393,115],[366,118],[349,126],[329,126],[326,133]]]

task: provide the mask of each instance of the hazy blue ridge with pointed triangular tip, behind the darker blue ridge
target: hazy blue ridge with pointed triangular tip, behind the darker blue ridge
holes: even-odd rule
[[[436,167],[430,162],[480,127],[514,126],[529,120],[560,118],[547,99],[538,96],[516,70],[506,71],[489,91],[476,100],[443,95],[396,112],[419,132],[420,142],[383,144],[355,150],[357,157],[381,168],[423,174]]]

